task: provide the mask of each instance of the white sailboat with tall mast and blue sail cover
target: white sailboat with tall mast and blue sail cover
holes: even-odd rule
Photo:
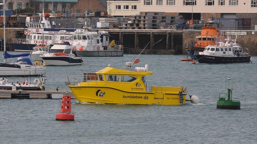
[[[3,4],[5,5],[5,0]],[[33,65],[29,58],[20,58],[30,54],[10,55],[6,52],[6,30],[5,30],[5,6],[3,7],[3,22],[4,22],[4,63],[0,63],[0,76],[38,76],[46,73],[46,68],[35,62]],[[19,57],[15,63],[7,63],[6,58]]]

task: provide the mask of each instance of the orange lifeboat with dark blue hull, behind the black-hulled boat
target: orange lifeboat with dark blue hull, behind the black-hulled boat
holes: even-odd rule
[[[218,28],[212,26],[213,24],[216,24]],[[208,45],[219,45],[218,42],[225,42],[225,39],[226,36],[219,30],[219,24],[210,22],[202,27],[201,34],[196,36],[196,42],[191,42],[190,46],[187,44],[186,52],[192,60],[196,60],[195,51],[203,51]]]

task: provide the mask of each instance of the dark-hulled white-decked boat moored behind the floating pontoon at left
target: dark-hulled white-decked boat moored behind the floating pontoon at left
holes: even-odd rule
[[[7,77],[3,77],[0,79],[0,90],[46,90],[45,81],[45,78],[36,78],[31,82],[28,78],[24,82],[9,82]]]

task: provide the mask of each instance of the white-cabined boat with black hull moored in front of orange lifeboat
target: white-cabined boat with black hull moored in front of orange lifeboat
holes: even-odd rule
[[[237,36],[236,36],[237,37]],[[250,54],[243,51],[242,47],[236,43],[236,39],[229,43],[220,42],[220,45],[206,46],[203,52],[196,51],[194,56],[199,63],[249,63],[253,62]],[[246,48],[246,50],[248,50]]]

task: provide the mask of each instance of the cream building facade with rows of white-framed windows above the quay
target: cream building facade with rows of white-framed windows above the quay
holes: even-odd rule
[[[252,18],[257,21],[257,0],[138,0],[107,1],[107,12],[114,17],[126,17],[140,12],[165,12],[182,15],[184,19]],[[135,8],[136,6],[136,8]]]

